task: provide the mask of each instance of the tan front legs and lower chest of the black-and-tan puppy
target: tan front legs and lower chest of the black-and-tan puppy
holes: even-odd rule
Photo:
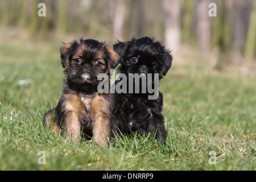
[[[93,137],[97,143],[105,146],[110,133],[109,102],[105,94],[96,94],[93,98],[68,94],[65,96],[64,109],[67,114],[65,129],[68,137],[73,140],[79,138],[81,132],[80,120],[89,115],[92,118]]]

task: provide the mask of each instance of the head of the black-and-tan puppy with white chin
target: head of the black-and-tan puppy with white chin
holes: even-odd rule
[[[105,43],[93,39],[79,39],[60,47],[61,64],[72,82],[97,85],[97,76],[117,67],[119,55]]]

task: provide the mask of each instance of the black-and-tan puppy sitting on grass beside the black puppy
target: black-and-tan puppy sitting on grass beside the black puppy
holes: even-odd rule
[[[97,77],[119,63],[119,55],[105,43],[93,39],[75,40],[60,47],[61,64],[65,69],[64,89],[55,109],[48,110],[43,123],[56,133],[66,133],[69,139],[94,139],[101,145],[108,143],[112,94],[98,93]]]

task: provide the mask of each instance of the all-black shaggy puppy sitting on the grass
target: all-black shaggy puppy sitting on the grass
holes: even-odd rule
[[[129,90],[134,91],[134,86],[138,84],[138,80],[132,85],[129,84],[130,81],[134,81],[129,75],[131,73],[138,73],[140,76],[146,75],[146,82],[150,78],[148,76],[152,75],[151,83],[155,85],[155,76],[158,76],[160,80],[171,68],[172,56],[170,51],[165,49],[161,42],[148,37],[118,42],[113,47],[114,51],[122,57],[118,73],[127,76],[126,85],[128,86],[126,93],[114,95],[114,117],[112,118],[110,137],[113,138],[120,133],[129,134],[130,131],[137,131],[140,134],[149,133],[165,143],[167,133],[164,128],[164,117],[161,113],[163,94],[154,88],[158,92],[158,97],[150,100],[148,96],[152,95],[152,92],[150,93],[148,88],[144,93],[142,92],[143,82],[139,82],[139,93],[130,93]],[[115,85],[118,85],[120,80],[117,80]],[[124,79],[121,81],[124,82]],[[148,86],[148,84],[145,85]],[[133,89],[130,89],[131,87]]]

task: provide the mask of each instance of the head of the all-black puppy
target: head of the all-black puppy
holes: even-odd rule
[[[121,73],[158,73],[159,78],[162,78],[171,68],[170,51],[154,39],[133,38],[128,42],[118,42],[113,47],[123,59],[119,68]]]

